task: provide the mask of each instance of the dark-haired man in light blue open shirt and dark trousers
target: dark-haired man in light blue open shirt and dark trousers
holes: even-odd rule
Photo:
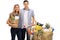
[[[23,2],[24,8],[21,10],[21,15],[20,15],[20,20],[19,21],[19,26],[22,28],[21,33],[22,33],[22,40],[25,39],[25,32],[27,32],[27,27],[28,25],[34,25],[34,11],[29,9],[28,5],[29,2],[25,0]],[[31,22],[32,21],[32,22]],[[27,32],[27,40],[30,40],[30,36]]]

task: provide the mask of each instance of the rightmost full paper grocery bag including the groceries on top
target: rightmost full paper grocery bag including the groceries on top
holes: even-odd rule
[[[43,37],[45,40],[52,40],[53,32],[49,24],[46,24],[46,27],[43,29]]]

